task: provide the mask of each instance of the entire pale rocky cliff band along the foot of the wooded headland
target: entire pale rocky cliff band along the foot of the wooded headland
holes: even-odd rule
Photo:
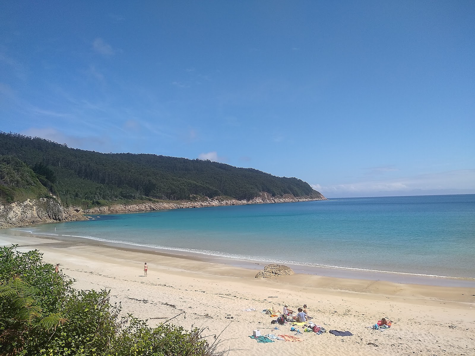
[[[0,228],[30,226],[39,224],[56,223],[60,221],[87,220],[87,214],[126,213],[151,210],[195,208],[204,206],[226,206],[266,203],[289,203],[311,200],[326,200],[323,195],[312,197],[294,197],[286,194],[283,197],[272,197],[268,193],[261,193],[252,200],[236,200],[222,198],[202,198],[199,201],[170,201],[146,202],[141,204],[115,204],[111,206],[96,206],[91,209],[81,207],[62,206],[56,198],[28,199],[24,202],[0,204]]]

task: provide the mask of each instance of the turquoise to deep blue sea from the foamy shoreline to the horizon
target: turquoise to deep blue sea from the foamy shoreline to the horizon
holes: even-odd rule
[[[474,194],[333,198],[94,217],[17,230],[248,260],[475,278]]]

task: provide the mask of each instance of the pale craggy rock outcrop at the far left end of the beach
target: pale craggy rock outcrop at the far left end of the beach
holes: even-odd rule
[[[80,209],[64,208],[54,198],[28,199],[24,202],[0,204],[0,228],[73,220],[87,220],[87,218],[81,214]]]

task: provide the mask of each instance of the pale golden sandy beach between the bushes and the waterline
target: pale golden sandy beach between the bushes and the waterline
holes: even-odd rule
[[[307,274],[254,278],[256,270],[190,256],[137,251],[83,241],[2,234],[0,244],[38,249],[60,263],[77,289],[110,289],[111,301],[156,325],[177,314],[175,324],[208,328],[229,355],[475,355],[475,288],[401,284]],[[143,262],[149,265],[143,276]],[[262,265],[264,267],[264,265]],[[302,342],[257,343],[262,335],[294,335],[290,325],[271,324],[263,309],[296,310],[307,304],[315,324],[353,336],[298,335]],[[256,309],[244,311],[243,309]],[[232,317],[232,319],[231,319]],[[389,330],[372,330],[381,317]],[[300,327],[302,328],[302,327]],[[212,341],[213,337],[209,337]]]

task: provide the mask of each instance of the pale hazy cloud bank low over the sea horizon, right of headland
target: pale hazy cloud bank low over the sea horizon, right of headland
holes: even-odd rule
[[[475,193],[475,169],[421,174],[406,178],[324,186],[313,184],[311,186],[329,197]]]

